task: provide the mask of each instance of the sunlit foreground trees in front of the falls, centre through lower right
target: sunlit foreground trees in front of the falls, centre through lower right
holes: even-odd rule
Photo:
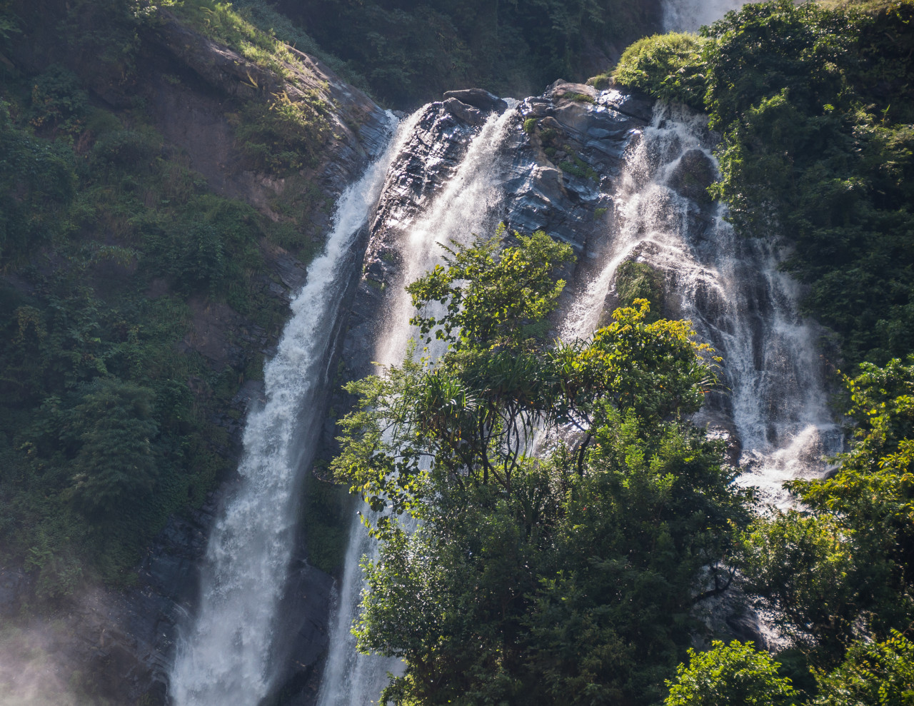
[[[649,322],[635,300],[587,341],[547,342],[569,248],[497,239],[454,248],[408,288],[441,358],[412,349],[349,385],[360,402],[334,468],[381,541],[355,632],[407,664],[386,697],[907,703],[914,357],[846,379],[857,431],[839,468],[792,481],[796,510],[762,514],[687,421],[716,360],[687,323]],[[738,569],[792,638],[774,658],[739,641],[690,648],[715,637],[696,606]]]

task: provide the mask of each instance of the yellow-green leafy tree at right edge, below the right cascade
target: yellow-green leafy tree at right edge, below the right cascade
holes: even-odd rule
[[[760,522],[747,571],[755,589],[824,661],[840,658],[860,631],[887,638],[914,617],[910,575],[914,452],[914,360],[861,366],[846,378],[859,424],[827,479],[792,480],[805,516]]]

